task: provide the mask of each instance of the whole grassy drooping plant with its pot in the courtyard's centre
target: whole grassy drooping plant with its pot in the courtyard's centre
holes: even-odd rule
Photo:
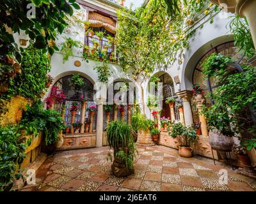
[[[114,161],[111,171],[116,177],[126,177],[134,173],[134,157],[136,145],[133,141],[132,128],[122,120],[109,122],[107,140],[110,148],[114,150]],[[111,154],[108,157],[112,158]]]

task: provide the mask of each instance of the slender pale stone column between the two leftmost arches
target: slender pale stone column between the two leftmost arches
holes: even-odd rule
[[[97,135],[96,135],[96,147],[102,147],[103,145],[103,103],[106,99],[97,99],[98,112],[97,112]]]

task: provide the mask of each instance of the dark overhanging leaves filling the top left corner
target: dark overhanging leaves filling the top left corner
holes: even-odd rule
[[[27,17],[30,9],[27,6],[31,2],[36,6],[35,18]],[[58,48],[55,45],[52,47],[48,42],[55,40],[58,33],[62,33],[67,26],[67,15],[73,14],[73,8],[79,9],[79,5],[73,0],[3,0],[0,5],[0,55],[11,55],[21,61],[20,50],[13,34],[6,31],[5,25],[13,33],[25,31],[31,40],[35,40],[35,48],[43,49],[44,52],[47,48],[52,55]]]

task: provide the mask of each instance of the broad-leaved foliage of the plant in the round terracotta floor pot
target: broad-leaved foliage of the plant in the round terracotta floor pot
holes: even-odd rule
[[[172,131],[169,132],[172,138],[176,138],[180,147],[191,147],[196,141],[196,131],[192,127],[186,127],[181,122],[172,123]]]

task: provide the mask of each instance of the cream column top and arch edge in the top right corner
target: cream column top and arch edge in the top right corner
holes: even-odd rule
[[[256,1],[255,0],[211,0],[224,7],[224,10],[236,13],[248,20],[254,47],[256,48]]]

